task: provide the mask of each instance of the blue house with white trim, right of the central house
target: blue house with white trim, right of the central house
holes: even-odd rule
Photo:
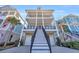
[[[79,16],[69,14],[58,21],[60,34],[65,33],[63,37],[70,37],[71,40],[79,38]],[[73,39],[74,38],[74,39]]]

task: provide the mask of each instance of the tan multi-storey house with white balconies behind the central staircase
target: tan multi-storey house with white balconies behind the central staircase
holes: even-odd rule
[[[36,27],[43,26],[49,35],[51,45],[55,45],[55,38],[59,36],[56,21],[54,20],[54,10],[45,10],[40,7],[37,9],[26,10],[27,28],[23,30],[23,36],[26,36],[25,45],[30,45],[31,37]]]

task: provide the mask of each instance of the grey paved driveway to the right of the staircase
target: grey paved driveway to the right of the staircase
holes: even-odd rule
[[[79,50],[54,46],[52,47],[52,53],[79,53]]]

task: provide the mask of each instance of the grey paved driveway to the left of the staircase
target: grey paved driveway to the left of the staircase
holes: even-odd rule
[[[30,53],[30,46],[14,47],[0,51],[0,53]]]

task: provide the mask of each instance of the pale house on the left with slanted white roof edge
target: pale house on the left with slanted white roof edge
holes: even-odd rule
[[[14,20],[19,22],[15,24],[16,21]],[[3,46],[6,46],[7,43],[11,41],[15,42],[17,40],[19,42],[23,27],[20,20],[22,20],[22,18],[15,8],[8,5],[0,7],[0,44],[2,44],[2,41],[4,41]]]

